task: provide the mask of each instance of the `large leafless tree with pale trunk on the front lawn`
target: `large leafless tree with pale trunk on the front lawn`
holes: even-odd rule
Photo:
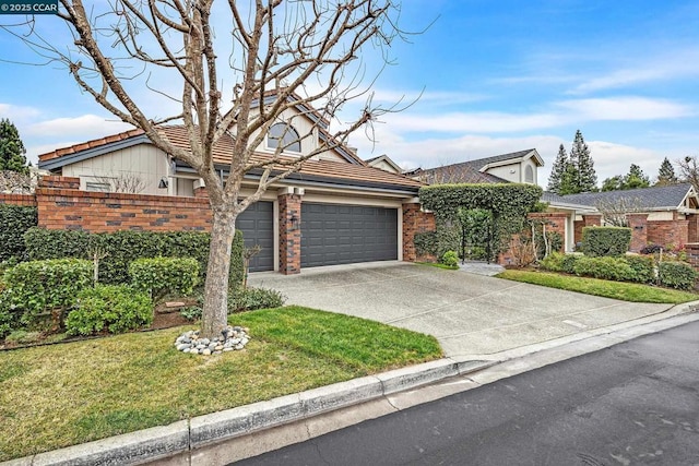
[[[72,34],[72,44],[54,44],[42,35],[43,23],[33,19],[24,28],[3,28],[40,56],[64,64],[84,93],[142,129],[155,146],[204,180],[213,224],[202,334],[217,335],[226,325],[236,217],[304,160],[344,144],[351,132],[395,110],[372,104],[368,91],[374,76],[366,76],[367,65],[358,57],[376,51],[389,62],[389,46],[403,37],[395,23],[399,8],[393,0],[85,3],[60,0],[58,17]],[[179,91],[168,91],[175,83]],[[143,99],[144,87],[162,97],[163,105]],[[325,124],[356,98],[366,99],[356,118],[327,132]],[[155,113],[167,108],[176,110]],[[320,118],[311,118],[311,128],[293,140],[285,131],[271,156],[257,156],[270,129],[280,122],[288,129],[291,112],[299,108],[307,116],[316,109]],[[158,131],[166,122],[185,126],[190,147],[174,144]],[[318,132],[327,135],[319,146],[300,157],[283,156],[285,147]],[[233,141],[225,182],[213,159],[213,148],[223,138]],[[259,171],[259,183],[242,199],[244,175],[250,170]]]

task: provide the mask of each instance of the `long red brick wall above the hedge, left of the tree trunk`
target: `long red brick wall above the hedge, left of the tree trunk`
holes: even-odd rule
[[[74,189],[78,178],[45,178],[49,180],[39,183],[35,193],[39,227],[90,232],[211,228],[206,199],[87,192]]]

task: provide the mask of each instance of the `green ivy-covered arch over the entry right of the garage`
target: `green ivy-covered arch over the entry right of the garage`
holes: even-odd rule
[[[423,187],[419,199],[423,207],[435,213],[438,256],[448,250],[459,250],[462,235],[460,211],[483,210],[491,215],[491,258],[507,248],[513,234],[524,226],[526,214],[542,196],[542,189],[532,184],[435,184]],[[415,244],[419,252],[417,243]]]

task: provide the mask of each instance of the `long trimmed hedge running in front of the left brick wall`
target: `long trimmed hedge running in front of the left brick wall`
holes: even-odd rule
[[[142,258],[193,258],[200,265],[200,277],[206,276],[210,235],[199,231],[131,231],[88,234],[72,230],[31,228],[24,235],[28,255],[33,260],[80,258],[99,261],[99,282],[129,283],[129,263]],[[244,277],[242,232],[236,230],[230,253],[229,283],[241,284]]]

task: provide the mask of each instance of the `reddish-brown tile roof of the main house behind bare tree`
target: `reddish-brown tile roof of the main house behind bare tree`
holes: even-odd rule
[[[183,126],[168,126],[158,129],[161,134],[166,136],[171,144],[177,147],[189,150],[189,138]],[[47,154],[39,155],[39,162],[55,160],[60,157],[76,154],[81,151],[102,147],[108,148],[108,144],[125,141],[130,138],[142,136],[142,130],[131,130],[106,138],[100,138],[82,144],[75,144],[70,147],[59,148]],[[230,154],[233,153],[233,139],[224,135],[213,148],[213,160],[215,165],[227,166],[230,164]],[[264,162],[269,158],[268,154],[256,153],[251,162]],[[293,157],[286,159],[293,160]],[[296,179],[304,176],[312,178],[337,179],[345,181],[359,181],[380,186],[394,186],[400,188],[410,188],[417,191],[423,186],[422,182],[413,180],[402,175],[391,174],[379,168],[368,167],[360,163],[334,162],[334,160],[307,160],[298,171]]]

